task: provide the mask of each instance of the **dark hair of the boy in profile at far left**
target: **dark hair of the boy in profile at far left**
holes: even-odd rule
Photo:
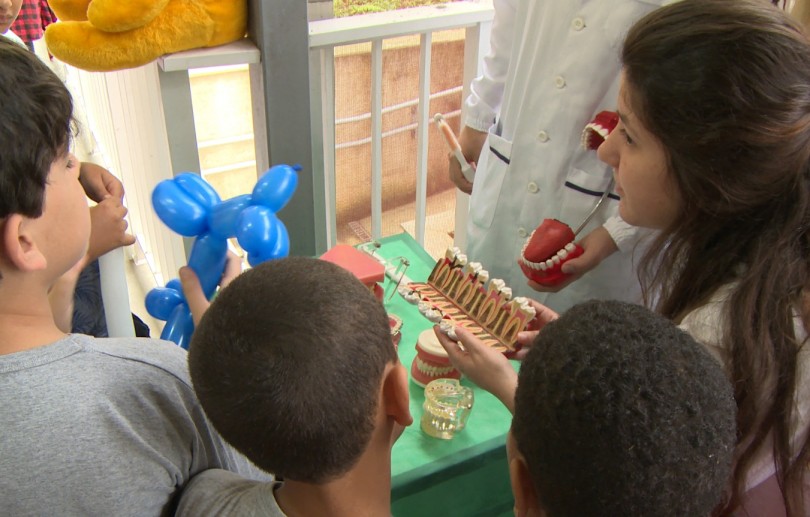
[[[0,37],[0,217],[42,214],[48,171],[67,152],[72,116],[62,81]]]

